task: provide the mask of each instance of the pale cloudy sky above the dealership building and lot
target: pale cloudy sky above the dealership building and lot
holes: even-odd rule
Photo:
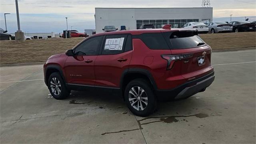
[[[210,0],[213,17],[256,16],[256,0]],[[202,7],[202,0],[18,0],[23,32],[61,32],[68,25],[84,31],[94,29],[94,8],[174,8]],[[0,0],[0,27],[5,29],[4,13],[9,32],[17,30],[15,0]]]

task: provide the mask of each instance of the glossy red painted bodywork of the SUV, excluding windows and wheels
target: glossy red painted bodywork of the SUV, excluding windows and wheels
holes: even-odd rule
[[[131,34],[132,36],[138,36],[146,33],[179,32],[185,30],[166,28],[115,31],[94,34],[82,42],[92,37],[112,34]],[[78,35],[79,34],[76,36]],[[76,46],[74,48],[76,48]],[[173,61],[172,68],[167,70],[166,67],[168,67],[168,63],[161,55],[176,54],[192,54],[192,57],[186,58],[185,60]],[[197,58],[203,55],[205,64],[198,66]],[[66,54],[60,54],[51,57],[44,64],[44,75],[47,79],[47,66],[56,65],[62,71],[67,84],[122,88],[121,82],[124,71],[139,68],[147,70],[150,75],[152,75],[156,84],[154,89],[172,90],[186,82],[214,72],[210,64],[210,59],[211,48],[208,45],[186,49],[154,50],[148,48],[140,38],[132,38],[132,50],[121,54],[94,56],[67,56]]]

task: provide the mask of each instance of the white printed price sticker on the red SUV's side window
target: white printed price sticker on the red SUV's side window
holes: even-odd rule
[[[107,38],[104,50],[123,50],[124,38]]]

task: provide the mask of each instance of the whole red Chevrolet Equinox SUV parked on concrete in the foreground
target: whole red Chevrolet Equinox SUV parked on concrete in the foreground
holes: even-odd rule
[[[210,62],[211,48],[195,30],[164,26],[107,32],[48,58],[44,81],[58,100],[70,90],[120,92],[134,114],[147,116],[157,100],[203,92],[215,77]]]

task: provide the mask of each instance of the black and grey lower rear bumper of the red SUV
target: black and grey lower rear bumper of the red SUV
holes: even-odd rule
[[[192,80],[174,88],[172,90],[156,90],[158,100],[184,99],[188,98],[198,92],[203,92],[214,81],[214,72]]]

